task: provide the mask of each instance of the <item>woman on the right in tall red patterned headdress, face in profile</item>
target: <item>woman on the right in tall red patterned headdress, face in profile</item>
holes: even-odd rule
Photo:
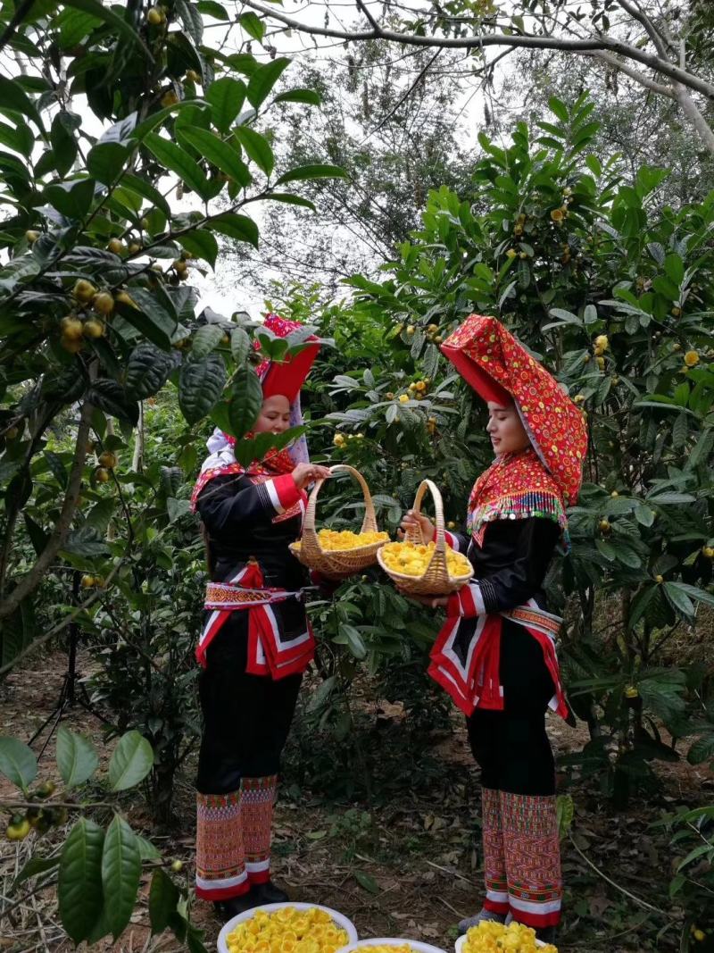
[[[446,534],[475,580],[449,598],[421,600],[446,606],[429,674],[466,714],[481,767],[486,897],[459,927],[512,918],[549,942],[562,879],[545,710],[571,716],[554,647],[561,619],[546,611],[543,581],[556,547],[568,546],[565,508],[580,489],[585,424],[495,318],[472,314],[442,351],[486,400],[496,455],[471,491],[466,533]],[[407,514],[403,527],[415,519]],[[432,537],[431,522],[419,521]]]

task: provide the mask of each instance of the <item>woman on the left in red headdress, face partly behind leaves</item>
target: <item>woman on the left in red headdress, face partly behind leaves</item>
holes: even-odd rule
[[[287,337],[301,325],[269,314]],[[257,371],[263,406],[252,434],[302,423],[300,388],[319,343]],[[270,831],[280,755],[300,682],[314,655],[288,544],[300,536],[307,485],[329,476],[310,465],[300,438],[247,468],[234,439],[216,430],[192,503],[207,538],[207,623],[196,649],[204,731],[198,762],[196,894],[222,919],[287,894],[270,881]]]

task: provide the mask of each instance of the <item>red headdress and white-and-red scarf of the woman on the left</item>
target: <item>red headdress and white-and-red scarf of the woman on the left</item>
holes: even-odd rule
[[[263,326],[276,337],[288,337],[303,328],[298,321],[289,321],[278,314],[268,314]],[[256,341],[253,347],[259,351],[260,342]],[[320,342],[312,335],[307,338],[304,347],[297,354],[287,355],[282,361],[272,361],[267,358],[255,369],[261,381],[264,397],[275,395],[288,397],[290,427],[299,427],[303,423],[300,389],[307,379],[319,350]],[[191,494],[192,509],[195,510],[199,494],[208,481],[215,476],[246,473],[248,476],[269,477],[290,473],[297,463],[307,462],[307,441],[304,436],[287,450],[268,451],[263,460],[254,460],[248,467],[242,466],[236,460],[233,453],[234,444],[234,436],[224,434],[217,428],[208,438],[209,455],[203,462],[201,474]]]

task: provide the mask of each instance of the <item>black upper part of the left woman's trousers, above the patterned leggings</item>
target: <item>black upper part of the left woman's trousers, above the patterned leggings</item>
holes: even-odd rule
[[[196,787],[237,791],[242,778],[278,774],[302,675],[248,675],[248,613],[234,612],[208,646],[199,697],[204,717]]]

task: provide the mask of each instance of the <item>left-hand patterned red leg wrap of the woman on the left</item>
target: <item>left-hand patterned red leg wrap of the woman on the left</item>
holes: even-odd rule
[[[241,792],[196,795],[196,896],[218,901],[248,891]]]

